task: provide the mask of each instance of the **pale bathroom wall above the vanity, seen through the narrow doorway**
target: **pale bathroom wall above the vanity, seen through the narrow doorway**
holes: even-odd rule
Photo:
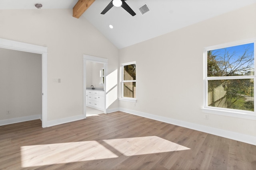
[[[86,88],[104,88],[100,85],[100,68],[103,68],[104,64],[86,61]]]

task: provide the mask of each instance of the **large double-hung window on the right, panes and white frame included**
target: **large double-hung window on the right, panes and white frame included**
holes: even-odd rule
[[[206,48],[204,108],[254,113],[254,41]]]

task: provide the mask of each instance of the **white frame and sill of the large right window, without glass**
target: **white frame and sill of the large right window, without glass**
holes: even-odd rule
[[[207,76],[207,51],[222,49],[227,47],[233,47],[237,45],[244,45],[248,43],[254,43],[254,60],[256,59],[256,39],[248,39],[244,41],[237,41],[232,43],[225,43],[220,45],[214,45],[204,48],[204,106],[202,107],[203,113],[210,113],[216,115],[224,115],[230,117],[238,117],[243,119],[256,120],[256,102],[254,101],[254,111],[246,111],[239,109],[229,109],[222,107],[208,106],[208,80],[234,80],[234,79],[253,79],[254,80],[254,95],[256,94],[256,63],[254,62],[254,75],[250,76],[221,76],[221,77],[208,77]]]

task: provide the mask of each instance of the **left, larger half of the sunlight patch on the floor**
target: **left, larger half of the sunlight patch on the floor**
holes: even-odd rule
[[[118,157],[97,141],[23,146],[20,150],[22,167]]]

